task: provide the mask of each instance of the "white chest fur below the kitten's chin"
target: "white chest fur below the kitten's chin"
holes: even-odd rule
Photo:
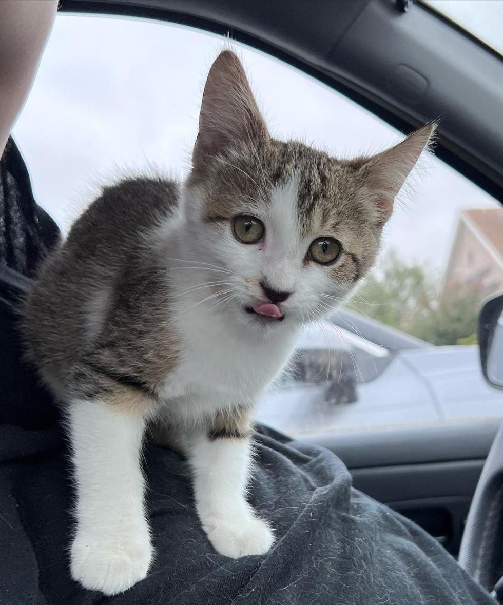
[[[203,308],[201,308],[203,307]],[[215,410],[254,403],[281,373],[295,347],[297,330],[264,330],[226,321],[211,309],[177,317],[183,352],[166,378],[168,413],[194,419]]]

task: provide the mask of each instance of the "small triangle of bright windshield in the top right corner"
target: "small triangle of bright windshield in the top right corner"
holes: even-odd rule
[[[503,54],[503,1],[423,0],[499,54]]]

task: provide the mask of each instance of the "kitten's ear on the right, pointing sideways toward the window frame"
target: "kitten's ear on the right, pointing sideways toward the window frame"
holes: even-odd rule
[[[367,158],[364,163],[366,185],[371,189],[384,221],[389,218],[395,197],[422,151],[432,142],[435,128],[436,124],[422,126],[398,145]]]

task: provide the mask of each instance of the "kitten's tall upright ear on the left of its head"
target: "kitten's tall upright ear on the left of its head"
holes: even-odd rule
[[[225,50],[211,66],[203,91],[194,166],[240,140],[260,145],[269,134],[240,60]]]

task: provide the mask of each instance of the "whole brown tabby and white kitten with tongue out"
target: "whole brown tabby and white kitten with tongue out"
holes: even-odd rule
[[[140,469],[151,423],[186,454],[215,550],[271,548],[271,526],[246,501],[255,402],[301,325],[330,313],[372,266],[432,132],[352,161],[274,140],[224,51],[186,182],[105,188],[42,264],[23,329],[64,402],[77,492],[71,575],[82,586],[113,595],[151,565]]]

